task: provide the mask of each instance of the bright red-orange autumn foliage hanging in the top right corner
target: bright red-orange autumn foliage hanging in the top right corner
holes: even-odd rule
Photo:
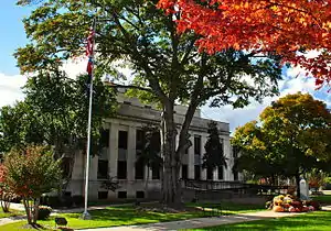
[[[178,31],[193,30],[201,51],[229,47],[276,53],[282,62],[331,82],[330,0],[160,0],[168,13],[180,13]],[[305,56],[318,51],[316,57]]]

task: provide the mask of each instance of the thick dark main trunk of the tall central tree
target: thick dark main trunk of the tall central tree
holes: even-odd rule
[[[177,129],[173,120],[173,106],[169,102],[163,110],[162,121],[162,154],[163,154],[163,180],[162,197],[163,202],[170,207],[178,207],[181,202],[180,197],[180,155],[175,152]]]

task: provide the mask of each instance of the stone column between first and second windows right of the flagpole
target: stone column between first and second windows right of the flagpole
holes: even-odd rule
[[[117,158],[118,158],[118,123],[110,123],[109,135],[109,170],[111,177],[117,177]]]

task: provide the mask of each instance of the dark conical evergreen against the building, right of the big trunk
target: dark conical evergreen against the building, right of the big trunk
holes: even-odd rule
[[[202,167],[207,169],[221,168],[223,166],[227,167],[223,143],[221,143],[220,132],[215,121],[209,123],[209,139],[204,145],[205,153],[203,155]]]

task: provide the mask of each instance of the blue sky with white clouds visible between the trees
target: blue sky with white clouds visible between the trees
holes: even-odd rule
[[[26,77],[20,75],[13,53],[18,47],[29,43],[24,33],[22,19],[28,16],[32,10],[31,8],[15,6],[14,0],[2,1],[0,8],[0,107],[13,105],[17,100],[24,99],[21,87],[24,86]],[[78,73],[84,73],[86,66],[84,63],[68,63],[64,66],[64,69],[70,76],[75,76]],[[248,121],[256,120],[258,114],[271,101],[287,94],[298,91],[309,92],[314,98],[324,101],[331,108],[331,92],[328,92],[328,88],[316,90],[314,80],[307,78],[305,70],[289,68],[284,69],[282,73],[284,80],[279,81],[280,96],[265,98],[263,103],[253,101],[244,109],[233,110],[231,106],[222,108],[209,108],[204,106],[201,109],[202,117],[228,122],[233,132],[235,128],[244,125]]]

